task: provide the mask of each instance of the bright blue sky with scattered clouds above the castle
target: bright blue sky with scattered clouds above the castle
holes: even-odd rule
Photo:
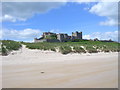
[[[117,2],[2,2],[1,39],[33,41],[43,32],[82,31],[83,39],[118,40]]]

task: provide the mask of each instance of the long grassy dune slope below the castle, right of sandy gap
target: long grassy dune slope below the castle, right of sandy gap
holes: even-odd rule
[[[97,52],[118,52],[120,43],[116,42],[100,42],[100,41],[81,41],[81,42],[61,42],[61,43],[24,43],[29,49],[52,50],[62,54],[74,53],[97,53]],[[81,47],[81,46],[84,46]]]

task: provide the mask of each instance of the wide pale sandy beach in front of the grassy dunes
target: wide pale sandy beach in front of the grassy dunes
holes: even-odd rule
[[[2,57],[3,88],[117,88],[118,53],[67,54],[23,48]]]

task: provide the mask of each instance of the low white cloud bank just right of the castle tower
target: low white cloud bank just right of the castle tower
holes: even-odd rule
[[[114,32],[94,32],[92,34],[83,35],[84,39],[95,39],[98,38],[100,40],[109,40],[112,39],[113,41],[118,41],[118,31]]]

